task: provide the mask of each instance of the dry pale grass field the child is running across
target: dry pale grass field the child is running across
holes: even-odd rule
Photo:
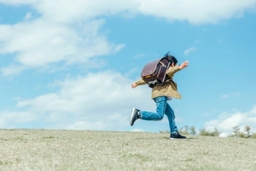
[[[256,140],[0,129],[0,170],[256,170]]]

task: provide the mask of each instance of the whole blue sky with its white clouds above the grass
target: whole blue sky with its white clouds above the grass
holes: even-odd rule
[[[159,3],[161,2],[161,3]],[[169,104],[178,128],[256,131],[256,1],[0,0],[0,128],[159,132],[151,88],[131,84],[167,51],[189,61]]]

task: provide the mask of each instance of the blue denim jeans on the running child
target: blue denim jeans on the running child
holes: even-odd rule
[[[174,120],[175,115],[172,107],[167,103],[167,96],[158,96],[154,98],[154,102],[157,104],[157,113],[140,111],[140,119],[147,121],[161,121],[165,114],[169,121],[170,133],[176,134],[178,129]]]

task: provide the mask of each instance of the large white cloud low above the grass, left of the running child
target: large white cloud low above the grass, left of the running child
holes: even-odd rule
[[[132,80],[113,71],[67,78],[51,84],[59,87],[59,91],[18,99],[15,110],[0,113],[0,126],[18,127],[20,117],[7,116],[30,113],[22,116],[23,122],[45,121],[51,129],[122,130],[129,126],[132,107],[155,110],[151,88],[133,89],[131,84]]]

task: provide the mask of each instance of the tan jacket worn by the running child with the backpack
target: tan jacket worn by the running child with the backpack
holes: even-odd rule
[[[167,70],[167,75],[171,77],[170,81],[168,80],[165,85],[154,86],[154,88],[152,88],[151,98],[154,99],[157,96],[170,96],[176,99],[181,99],[181,94],[179,94],[177,90],[177,83],[173,81],[173,75],[180,70],[178,65],[170,67]],[[140,86],[145,85],[146,83],[143,80],[138,80],[135,84]]]

